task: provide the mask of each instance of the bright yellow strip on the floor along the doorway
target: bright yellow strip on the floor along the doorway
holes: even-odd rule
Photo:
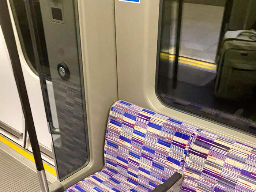
[[[7,139],[3,138],[2,136],[0,136],[0,142],[3,142],[7,146],[11,147],[13,150],[17,151],[19,154],[21,154],[24,157],[28,158],[30,161],[35,162],[35,159],[34,159],[33,155],[27,153],[25,150],[19,148],[18,146],[16,146],[12,142],[8,141]],[[44,164],[44,168],[45,168],[46,171],[48,171],[49,173],[53,174],[54,176],[57,176],[55,169],[53,169],[49,165],[46,165],[45,163],[43,163],[43,164]]]

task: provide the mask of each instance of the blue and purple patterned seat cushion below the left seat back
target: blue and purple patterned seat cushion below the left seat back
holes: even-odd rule
[[[134,183],[114,170],[104,168],[79,181],[64,192],[147,192],[147,188]]]

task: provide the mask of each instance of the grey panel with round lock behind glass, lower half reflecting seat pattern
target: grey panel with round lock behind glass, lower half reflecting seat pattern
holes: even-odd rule
[[[76,1],[70,0],[39,2],[53,87],[47,91],[53,90],[59,125],[53,127],[59,129],[53,146],[59,177],[64,178],[88,162],[77,6]]]

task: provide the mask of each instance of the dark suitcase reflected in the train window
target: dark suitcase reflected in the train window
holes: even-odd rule
[[[217,61],[215,96],[252,99],[256,88],[256,33],[227,31]]]

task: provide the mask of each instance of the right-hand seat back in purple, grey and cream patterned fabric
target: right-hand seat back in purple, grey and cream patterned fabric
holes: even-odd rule
[[[183,172],[181,192],[255,192],[256,148],[200,130]]]

